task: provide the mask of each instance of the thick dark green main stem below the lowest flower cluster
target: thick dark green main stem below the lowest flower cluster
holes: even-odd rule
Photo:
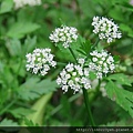
[[[86,106],[88,115],[90,117],[91,125],[95,126],[95,123],[94,123],[94,120],[93,120],[93,115],[92,115],[92,112],[91,112],[91,109],[90,109],[88,92],[86,92],[85,89],[82,89],[82,90],[83,90],[84,102],[85,102],[85,106]]]

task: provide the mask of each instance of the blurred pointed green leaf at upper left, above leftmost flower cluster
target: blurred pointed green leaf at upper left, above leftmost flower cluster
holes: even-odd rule
[[[37,23],[31,22],[17,22],[14,23],[10,30],[8,31],[7,35],[10,38],[18,38],[21,39],[25,34],[31,33],[40,28]]]

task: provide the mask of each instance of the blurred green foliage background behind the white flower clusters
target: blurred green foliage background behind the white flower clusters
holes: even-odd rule
[[[75,27],[82,37],[94,43],[98,37],[92,33],[93,17],[113,19],[122,38],[106,49],[120,55],[117,71],[133,78],[132,0],[42,0],[39,6],[19,9],[14,8],[13,0],[0,0],[0,4],[1,126],[83,126],[90,123],[82,94],[63,94],[55,83],[64,65],[45,76],[25,71],[25,54],[35,48],[51,48],[59,62],[73,61],[68,51],[60,51],[49,40],[50,33],[61,24]],[[133,92],[132,86],[124,89]],[[133,125],[130,114],[102,91],[96,96],[90,92],[89,98],[96,125]]]

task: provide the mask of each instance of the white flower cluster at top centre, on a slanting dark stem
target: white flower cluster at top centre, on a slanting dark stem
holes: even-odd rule
[[[73,27],[61,25],[61,28],[57,28],[49,38],[52,42],[63,42],[63,47],[69,48],[73,41],[76,41],[78,30]]]

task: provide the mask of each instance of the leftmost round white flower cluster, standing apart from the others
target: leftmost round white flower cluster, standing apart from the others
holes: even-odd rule
[[[51,49],[35,49],[33,53],[28,53],[27,58],[27,71],[31,71],[34,74],[45,75],[51,66],[55,66],[57,62],[53,61],[53,54],[50,53]]]

